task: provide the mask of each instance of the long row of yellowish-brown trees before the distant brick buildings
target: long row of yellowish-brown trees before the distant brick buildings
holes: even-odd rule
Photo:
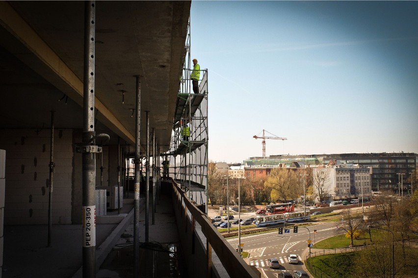
[[[296,200],[300,196],[311,196],[312,201],[318,199],[324,201],[332,194],[326,187],[330,178],[328,168],[323,171],[313,171],[313,168],[304,168],[303,171],[296,169],[274,168],[267,177],[247,177],[240,179],[227,178],[226,173],[217,171],[216,163],[209,162],[209,200],[212,204],[226,204],[227,191],[229,191],[230,204],[238,202],[238,182],[240,184],[241,204],[263,204],[277,201]],[[416,190],[417,170],[406,182],[415,184]],[[228,182],[227,182],[228,180]],[[228,183],[228,186],[227,186]],[[228,190],[229,189],[229,190]],[[305,192],[304,192],[305,189]]]

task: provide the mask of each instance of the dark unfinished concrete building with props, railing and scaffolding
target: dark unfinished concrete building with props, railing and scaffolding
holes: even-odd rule
[[[156,253],[139,246],[149,241],[159,194],[167,194],[177,228],[162,232],[180,238],[183,276],[260,277],[205,214],[209,79],[202,65],[199,92],[192,92],[190,4],[0,2],[1,253],[16,240],[3,238],[4,227],[25,226],[30,246],[35,227],[45,227],[48,247],[56,227],[71,227],[81,242],[55,244],[67,254],[56,261],[58,271],[71,273],[66,263],[74,263],[82,277],[96,277],[110,252],[96,244],[103,223],[117,226],[113,235],[131,222],[127,265],[133,277],[140,269],[155,277],[156,262],[146,262]],[[71,248],[78,248],[74,260]],[[53,250],[42,249],[25,269],[46,277],[54,265],[41,265],[54,259]],[[24,256],[26,248],[17,252]]]

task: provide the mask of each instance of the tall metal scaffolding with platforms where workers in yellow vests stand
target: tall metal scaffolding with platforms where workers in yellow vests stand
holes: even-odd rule
[[[199,94],[191,90],[192,72],[190,58],[190,22],[184,49],[183,72],[180,77],[179,94],[173,121],[169,174],[181,186],[190,200],[201,205],[207,213],[208,184],[208,70],[200,70]],[[182,130],[187,125],[190,134],[183,138]]]

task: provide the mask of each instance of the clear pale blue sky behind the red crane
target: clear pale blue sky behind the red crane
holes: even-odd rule
[[[418,1],[200,1],[209,161],[418,153]]]

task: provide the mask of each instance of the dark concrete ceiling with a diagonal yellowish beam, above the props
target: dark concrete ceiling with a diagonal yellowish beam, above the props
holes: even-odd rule
[[[150,111],[168,151],[189,13],[190,1],[96,2],[96,132],[133,143],[139,75],[141,145]],[[0,128],[49,126],[51,110],[56,128],[82,128],[83,22],[83,1],[1,1]]]

